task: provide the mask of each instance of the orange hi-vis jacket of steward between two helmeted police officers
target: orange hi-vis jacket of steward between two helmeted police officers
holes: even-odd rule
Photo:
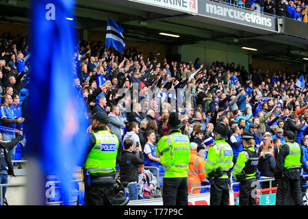
[[[205,160],[198,156],[198,152],[190,151],[190,162],[188,164],[188,194],[192,188],[201,186],[201,182],[205,181]],[[201,189],[192,191],[192,194],[200,194]]]

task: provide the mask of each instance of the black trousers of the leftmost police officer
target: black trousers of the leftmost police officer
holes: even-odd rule
[[[90,185],[85,182],[84,200],[86,205],[112,205],[114,179],[91,178]]]

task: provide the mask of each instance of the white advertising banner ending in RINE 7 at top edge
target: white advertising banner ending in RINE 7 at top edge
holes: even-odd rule
[[[198,0],[129,0],[174,10],[198,13]]]

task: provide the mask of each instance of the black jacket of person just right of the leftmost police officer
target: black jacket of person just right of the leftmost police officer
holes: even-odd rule
[[[138,165],[144,164],[144,153],[123,151],[120,160],[120,181],[121,182],[138,182]]]

